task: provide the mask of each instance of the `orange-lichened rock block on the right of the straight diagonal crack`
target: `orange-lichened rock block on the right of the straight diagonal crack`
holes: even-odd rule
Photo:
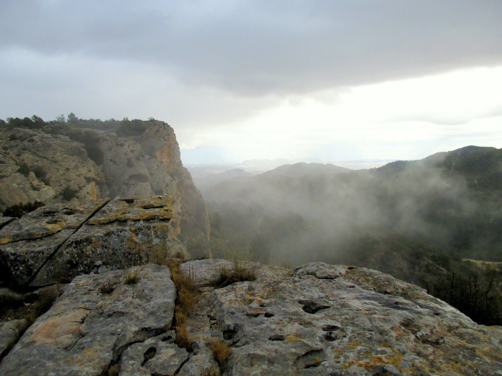
[[[59,248],[31,285],[142,265],[158,249],[189,257],[170,226],[172,200],[170,196],[113,199]]]

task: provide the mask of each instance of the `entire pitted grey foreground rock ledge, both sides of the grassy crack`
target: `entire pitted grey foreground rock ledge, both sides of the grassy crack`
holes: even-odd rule
[[[318,262],[215,287],[225,265],[181,265],[199,283],[190,346],[175,343],[174,274],[148,264],[76,277],[19,340],[23,323],[2,324],[0,338],[17,343],[0,375],[500,374],[501,327],[389,275]],[[229,348],[219,362],[214,343]]]

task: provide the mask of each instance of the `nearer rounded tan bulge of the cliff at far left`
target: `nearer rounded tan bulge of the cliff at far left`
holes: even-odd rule
[[[82,144],[24,128],[0,129],[0,210],[19,203],[96,200],[99,168]]]

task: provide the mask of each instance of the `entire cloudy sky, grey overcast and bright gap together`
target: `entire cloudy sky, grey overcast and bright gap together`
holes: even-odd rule
[[[502,1],[0,2],[0,118],[168,122],[185,164],[502,147]]]

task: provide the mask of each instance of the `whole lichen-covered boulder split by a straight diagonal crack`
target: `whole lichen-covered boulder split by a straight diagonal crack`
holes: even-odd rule
[[[170,196],[53,204],[0,230],[0,256],[12,285],[45,286],[80,274],[148,262],[156,250],[188,257],[172,226]]]

